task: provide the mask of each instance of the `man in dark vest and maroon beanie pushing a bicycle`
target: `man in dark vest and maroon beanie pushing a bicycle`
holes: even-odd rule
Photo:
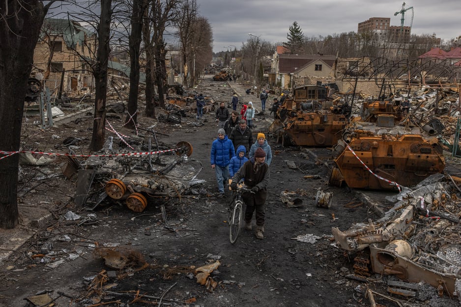
[[[256,210],[256,237],[264,239],[264,204],[267,198],[267,185],[269,184],[269,166],[264,162],[266,153],[260,147],[256,149],[255,156],[245,162],[232,177],[231,189],[237,189],[237,183],[244,179],[245,186],[253,193],[243,193],[242,198],[246,204],[245,229],[251,230],[253,212]]]

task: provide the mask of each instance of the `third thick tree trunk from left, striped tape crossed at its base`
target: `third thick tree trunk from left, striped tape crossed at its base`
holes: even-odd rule
[[[128,94],[128,114],[125,127],[135,129],[138,123],[138,89],[139,89],[139,50],[143,30],[143,15],[146,0],[133,1],[131,16],[131,33],[128,39],[130,48],[130,93]]]

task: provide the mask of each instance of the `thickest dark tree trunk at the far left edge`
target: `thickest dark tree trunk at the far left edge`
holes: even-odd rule
[[[33,51],[46,11],[38,0],[0,1],[0,150],[19,150]],[[7,155],[0,153],[0,227],[14,228],[19,223],[19,154]]]

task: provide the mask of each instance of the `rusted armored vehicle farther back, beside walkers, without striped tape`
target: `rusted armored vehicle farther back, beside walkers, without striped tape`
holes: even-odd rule
[[[285,99],[269,130],[283,146],[332,146],[341,139],[349,106],[328,100],[328,88],[303,85]]]

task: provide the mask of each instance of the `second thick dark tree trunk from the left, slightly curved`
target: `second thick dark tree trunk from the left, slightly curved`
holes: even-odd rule
[[[107,65],[110,54],[110,34],[112,18],[112,0],[101,0],[101,16],[98,27],[98,53],[93,76],[95,80],[95,99],[93,134],[89,149],[100,150],[104,146],[106,132],[106,101],[107,101]]]

